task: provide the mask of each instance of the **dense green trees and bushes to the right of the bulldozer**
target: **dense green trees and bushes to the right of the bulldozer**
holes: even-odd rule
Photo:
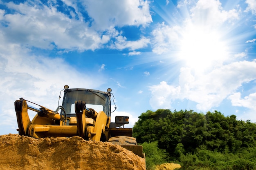
[[[147,110],[133,127],[147,170],[179,163],[180,170],[256,170],[256,124],[221,112]]]

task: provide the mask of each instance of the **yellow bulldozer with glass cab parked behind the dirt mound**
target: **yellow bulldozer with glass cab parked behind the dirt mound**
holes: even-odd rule
[[[142,145],[137,145],[136,139],[132,137],[132,128],[124,128],[129,123],[129,117],[115,116],[115,122],[110,121],[113,96],[111,88],[103,92],[95,89],[70,89],[65,85],[61,92],[63,91],[62,105],[55,111],[24,98],[16,100],[14,106],[18,133],[36,139],[80,136],[85,140],[111,142],[145,159]],[[60,98],[61,93],[59,101]],[[114,100],[113,96],[115,104]],[[32,121],[29,119],[28,110],[37,112]]]

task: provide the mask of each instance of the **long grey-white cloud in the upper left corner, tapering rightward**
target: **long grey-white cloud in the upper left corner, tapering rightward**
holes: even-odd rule
[[[64,13],[58,12],[54,6],[38,6],[28,2],[9,2],[7,6],[18,11],[4,15],[4,22],[8,27],[3,27],[1,31],[11,43],[42,49],[56,47],[84,51],[97,49],[109,40],[106,38],[108,35],[99,35],[88,27],[88,23],[70,19]]]

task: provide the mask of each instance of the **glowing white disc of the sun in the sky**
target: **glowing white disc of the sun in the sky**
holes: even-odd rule
[[[178,56],[186,67],[203,71],[222,64],[228,57],[228,46],[220,29],[191,24],[181,37]]]

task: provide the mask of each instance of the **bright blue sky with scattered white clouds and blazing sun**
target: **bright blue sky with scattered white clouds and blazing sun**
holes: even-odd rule
[[[256,122],[255,41],[256,0],[0,0],[0,134],[14,101],[55,110],[65,84],[111,87],[127,127],[157,109]]]

